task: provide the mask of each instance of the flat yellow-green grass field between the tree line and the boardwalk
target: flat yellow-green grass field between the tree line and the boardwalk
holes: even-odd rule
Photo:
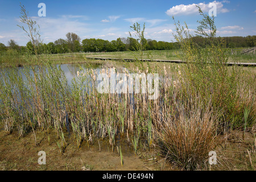
[[[176,53],[179,50],[153,50],[153,51],[144,51],[143,59],[151,60],[179,60]],[[232,51],[228,49],[230,53],[229,62],[242,62],[242,63],[256,63],[256,55],[253,53],[241,55],[241,50]],[[52,60],[55,64],[67,64],[67,63],[85,63],[88,62],[86,57],[111,57],[118,59],[134,59],[137,57],[141,59],[141,56],[138,53],[132,51],[123,51],[123,52],[88,52],[88,53],[63,53],[63,54],[53,54],[53,55],[39,55],[39,61],[35,61],[35,55],[0,55],[1,67],[10,67],[10,65],[15,65],[21,67],[28,64],[40,64],[44,60]],[[33,61],[30,61],[33,60]]]

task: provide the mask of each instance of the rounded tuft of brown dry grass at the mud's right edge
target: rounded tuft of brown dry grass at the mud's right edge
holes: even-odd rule
[[[217,134],[217,123],[217,116],[209,109],[197,107],[185,113],[179,106],[174,116],[164,119],[159,131],[166,159],[185,170],[202,167],[209,159],[209,152],[224,139]]]

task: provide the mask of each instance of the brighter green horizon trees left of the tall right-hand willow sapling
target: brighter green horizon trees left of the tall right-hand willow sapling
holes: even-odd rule
[[[37,52],[40,53],[68,53],[68,52],[114,52],[114,51],[135,51],[137,39],[134,38],[118,38],[117,40],[103,40],[103,39],[84,39],[75,34],[69,32],[66,34],[67,39],[57,39],[55,42],[36,43],[38,48]],[[147,50],[169,50],[169,49],[179,49],[179,44],[163,42],[151,39],[143,40],[144,47]],[[32,42],[28,42],[26,47],[18,46],[18,44],[11,39],[8,42],[8,46],[5,44],[0,44],[0,52],[7,51],[7,49],[14,49],[18,52],[27,52],[35,54],[35,46]]]

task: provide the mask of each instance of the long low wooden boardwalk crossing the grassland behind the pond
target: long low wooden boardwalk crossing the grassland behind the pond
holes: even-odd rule
[[[123,61],[135,61],[136,59],[119,59],[119,58],[111,58],[111,57],[86,57],[87,59],[94,59],[94,60],[123,60]],[[152,61],[150,59],[139,59],[141,61]],[[166,63],[186,63],[186,61],[181,61],[181,60],[160,60],[156,59],[154,60],[155,62],[166,62]],[[227,65],[242,65],[242,66],[256,66],[256,63],[226,63]]]

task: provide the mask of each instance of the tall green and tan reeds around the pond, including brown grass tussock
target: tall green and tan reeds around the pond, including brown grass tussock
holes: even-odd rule
[[[159,97],[148,100],[148,93],[99,93],[97,75],[110,76],[109,69],[81,69],[71,84],[60,67],[52,64],[24,67],[23,72],[16,67],[1,69],[0,119],[7,134],[18,131],[19,137],[24,137],[33,133],[35,144],[37,131],[48,133],[54,128],[61,153],[65,152],[68,136],[77,147],[82,142],[90,147],[98,139],[108,139],[112,151],[117,137],[122,136],[135,155],[142,146],[150,149],[156,144],[177,166],[196,169],[222,142],[224,129],[228,132],[243,126],[244,106],[250,105],[247,127],[255,122],[255,90],[243,82],[232,88],[240,109],[226,122],[226,107],[216,107],[213,94],[201,94],[185,77],[183,68],[171,70],[164,66],[123,71],[159,73]],[[235,122],[239,125],[233,125]],[[229,127],[222,127],[224,123]]]

